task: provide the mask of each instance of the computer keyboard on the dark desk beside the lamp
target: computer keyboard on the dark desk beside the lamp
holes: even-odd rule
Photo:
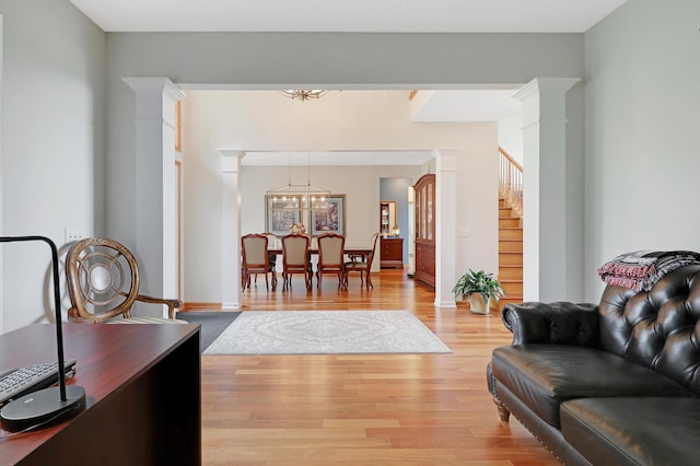
[[[65,363],[66,376],[75,373],[75,360],[70,359]],[[5,372],[0,378],[0,406],[8,401],[50,387],[58,382],[58,361],[27,365]]]

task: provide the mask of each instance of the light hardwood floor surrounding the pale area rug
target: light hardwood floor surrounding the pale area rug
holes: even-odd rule
[[[408,310],[452,354],[202,356],[205,465],[557,465],[515,419],[501,423],[487,389],[498,313],[436,308],[433,290],[400,270],[374,290],[334,278],[306,293],[244,292],[246,310]]]

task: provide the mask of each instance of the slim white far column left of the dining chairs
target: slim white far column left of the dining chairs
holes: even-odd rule
[[[221,306],[241,307],[241,159],[245,152],[221,155]]]

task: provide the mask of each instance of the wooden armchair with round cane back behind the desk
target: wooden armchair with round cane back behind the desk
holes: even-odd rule
[[[136,257],[126,246],[103,237],[77,242],[66,255],[69,322],[187,324],[175,318],[175,310],[183,304],[180,300],[140,294],[139,284]],[[167,306],[167,318],[131,315],[137,302]]]

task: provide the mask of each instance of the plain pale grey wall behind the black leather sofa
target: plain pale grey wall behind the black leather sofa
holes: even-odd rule
[[[627,2],[585,34],[586,298],[637,249],[700,251],[700,2]]]

